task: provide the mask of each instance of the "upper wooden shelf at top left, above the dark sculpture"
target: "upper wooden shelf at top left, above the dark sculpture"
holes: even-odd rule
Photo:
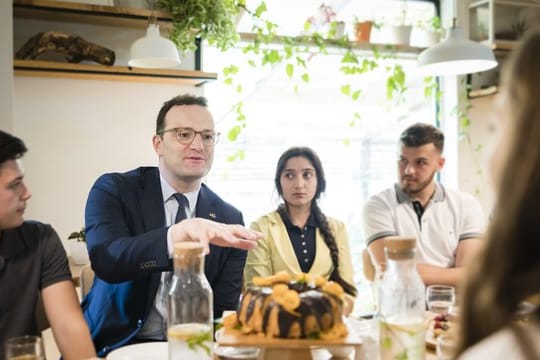
[[[161,28],[170,28],[171,17],[168,13],[156,10],[154,14]],[[150,10],[53,0],[14,0],[13,16],[15,18],[144,29],[148,26]]]

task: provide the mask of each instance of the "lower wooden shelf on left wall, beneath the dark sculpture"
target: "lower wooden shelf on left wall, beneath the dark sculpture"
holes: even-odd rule
[[[54,61],[14,60],[16,76],[172,83],[201,86],[217,79],[216,73],[171,69],[139,69],[125,66],[70,64]]]

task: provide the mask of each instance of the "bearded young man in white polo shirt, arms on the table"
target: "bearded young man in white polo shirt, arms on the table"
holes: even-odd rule
[[[429,124],[411,125],[401,134],[399,183],[368,200],[364,230],[376,268],[384,269],[386,237],[414,236],[424,283],[455,286],[480,244],[485,225],[473,196],[435,181],[444,166],[443,147],[443,133]]]

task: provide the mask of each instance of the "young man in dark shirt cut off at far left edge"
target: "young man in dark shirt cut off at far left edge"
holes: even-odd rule
[[[0,131],[0,359],[7,339],[41,335],[39,297],[63,358],[92,358],[96,352],[62,242],[50,225],[23,218],[32,196],[21,161],[26,151],[21,139]]]

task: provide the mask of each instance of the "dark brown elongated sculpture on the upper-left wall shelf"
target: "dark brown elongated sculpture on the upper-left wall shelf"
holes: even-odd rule
[[[78,35],[61,31],[40,32],[32,36],[17,51],[17,59],[35,59],[45,53],[61,53],[70,63],[79,63],[83,60],[94,61],[103,65],[114,64],[114,51],[101,45],[84,40]]]

